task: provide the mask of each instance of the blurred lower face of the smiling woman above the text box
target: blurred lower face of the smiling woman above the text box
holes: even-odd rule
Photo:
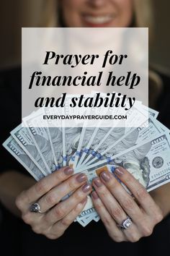
[[[63,0],[66,27],[128,27],[133,18],[132,0]]]

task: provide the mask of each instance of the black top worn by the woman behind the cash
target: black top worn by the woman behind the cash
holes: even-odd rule
[[[158,98],[156,110],[160,111],[158,119],[170,128],[170,79],[161,75],[164,90]],[[0,72],[1,88],[1,137],[0,145],[9,132],[21,123],[21,69]],[[9,168],[27,171],[1,146],[1,171]],[[17,256],[104,256],[104,255],[169,255],[170,218],[159,223],[149,237],[139,242],[116,243],[107,235],[102,221],[92,221],[86,228],[73,223],[65,234],[57,240],[46,239],[35,234],[30,226],[14,217],[0,205],[0,254]],[[2,252],[2,253],[1,253]],[[4,252],[4,254],[3,254]]]

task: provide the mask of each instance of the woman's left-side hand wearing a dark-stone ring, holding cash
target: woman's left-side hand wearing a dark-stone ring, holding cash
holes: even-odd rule
[[[91,186],[86,182],[85,174],[72,174],[72,168],[63,167],[17,197],[22,219],[32,226],[35,233],[57,239],[83,210]],[[73,194],[61,201],[70,192]],[[34,202],[38,202],[42,213],[30,212],[30,205]]]

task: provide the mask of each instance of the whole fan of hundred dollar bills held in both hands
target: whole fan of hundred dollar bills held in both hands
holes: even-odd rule
[[[23,119],[4,142],[4,148],[37,180],[57,171],[62,166],[72,166],[74,173],[84,172],[91,182],[100,171],[111,171],[117,166],[130,171],[148,191],[170,181],[169,129],[156,117],[158,112],[148,111],[148,119],[140,124],[138,115],[127,127],[38,127],[37,112]],[[123,185],[123,184],[122,184]],[[86,226],[99,221],[91,197],[75,221]]]

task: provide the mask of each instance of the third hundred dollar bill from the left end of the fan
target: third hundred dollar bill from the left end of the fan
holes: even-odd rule
[[[48,137],[47,128],[42,126],[42,110],[37,111],[23,119],[28,132],[32,137],[35,146],[40,153],[40,156],[48,169],[48,173],[55,171],[55,161],[53,159],[53,152]]]

